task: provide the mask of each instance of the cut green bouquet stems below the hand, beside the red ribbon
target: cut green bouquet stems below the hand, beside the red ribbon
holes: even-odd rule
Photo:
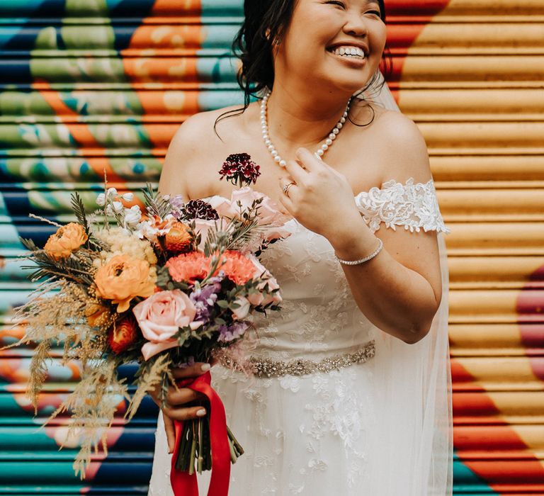
[[[227,438],[229,441],[230,460],[236,463],[242,456],[244,449],[227,426]],[[212,453],[210,443],[210,417],[205,415],[200,419],[183,422],[176,470],[188,472],[190,475],[196,471],[211,470]]]

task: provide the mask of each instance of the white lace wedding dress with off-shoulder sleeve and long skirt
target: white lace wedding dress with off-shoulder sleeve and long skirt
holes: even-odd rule
[[[443,300],[429,335],[405,344],[358,309],[334,250],[296,220],[261,257],[280,284],[282,310],[259,320],[254,356],[322,361],[375,346],[364,363],[327,373],[246,378],[212,368],[227,422],[245,453],[230,496],[444,496],[451,494],[448,271],[433,181],[387,181],[356,196],[371,230],[438,232]],[[370,344],[369,344],[370,343]],[[150,496],[171,496],[159,415]],[[209,473],[198,476],[200,495]],[[213,495],[212,495],[213,496]]]

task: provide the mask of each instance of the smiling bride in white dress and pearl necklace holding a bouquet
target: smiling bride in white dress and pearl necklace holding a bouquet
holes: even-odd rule
[[[276,373],[212,368],[246,451],[229,495],[450,495],[449,230],[424,139],[381,77],[383,1],[246,0],[244,12],[246,105],[186,120],[160,181],[230,197],[217,171],[246,152],[254,188],[290,215],[290,237],[261,256],[282,310],[256,322],[252,352]],[[196,394],[171,390],[159,415],[149,495],[173,494],[172,419],[202,415],[185,406]]]

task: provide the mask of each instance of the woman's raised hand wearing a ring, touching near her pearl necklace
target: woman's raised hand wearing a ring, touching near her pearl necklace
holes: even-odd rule
[[[351,222],[361,222],[346,176],[306,148],[299,148],[296,156],[297,160],[287,162],[288,176],[280,178],[280,201],[288,212],[307,229],[328,239],[341,225],[349,229]],[[295,184],[286,195],[283,187],[290,182]]]

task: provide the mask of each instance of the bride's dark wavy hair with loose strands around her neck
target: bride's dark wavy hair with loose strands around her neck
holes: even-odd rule
[[[273,88],[273,45],[277,40],[283,38],[285,30],[293,17],[295,1],[297,0],[244,0],[244,23],[232,42],[234,55],[242,61],[242,68],[237,74],[237,81],[242,91],[244,91],[244,106],[226,111],[217,117],[213,126],[215,134],[217,134],[216,127],[220,120],[244,113],[252,97],[259,98],[259,91],[266,87]],[[385,23],[384,0],[377,1],[380,5],[380,18]],[[386,79],[392,71],[391,53],[387,45],[385,45],[383,51],[380,70]],[[356,94],[363,93],[375,84],[378,75],[378,72],[376,72],[366,86],[357,91]],[[382,81],[377,91],[380,91],[383,84],[385,84],[385,81]],[[355,125],[369,125],[374,120],[374,109],[372,107],[370,109],[372,118],[368,123],[354,123],[349,115],[348,119]]]

